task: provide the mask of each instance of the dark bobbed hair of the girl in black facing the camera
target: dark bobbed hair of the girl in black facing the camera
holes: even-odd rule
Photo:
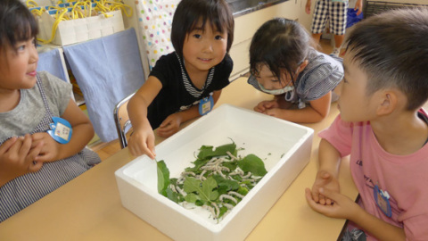
[[[235,21],[225,0],[182,0],[178,5],[171,27],[171,42],[177,54],[183,56],[185,37],[196,29],[198,21],[210,21],[211,27],[220,32],[227,32],[226,52],[229,52],[234,41]],[[225,29],[226,28],[226,29]]]

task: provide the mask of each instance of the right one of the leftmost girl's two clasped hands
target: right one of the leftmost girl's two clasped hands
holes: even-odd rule
[[[58,154],[60,154],[60,147],[62,144],[56,142],[53,137],[51,137],[46,132],[38,132],[32,136],[33,143],[31,148],[34,146],[43,143],[42,150],[40,154],[36,157],[38,162],[53,162],[58,160]]]

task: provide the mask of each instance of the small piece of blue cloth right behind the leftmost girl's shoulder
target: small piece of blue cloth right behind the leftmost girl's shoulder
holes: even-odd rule
[[[51,51],[38,54],[37,72],[46,71],[66,81],[68,73],[62,67],[60,50],[55,48]]]

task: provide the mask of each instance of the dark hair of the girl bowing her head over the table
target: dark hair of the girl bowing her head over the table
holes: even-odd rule
[[[310,46],[313,40],[299,22],[284,18],[266,21],[251,39],[251,74],[259,75],[259,64],[266,64],[278,79],[282,70],[292,73],[308,57]]]

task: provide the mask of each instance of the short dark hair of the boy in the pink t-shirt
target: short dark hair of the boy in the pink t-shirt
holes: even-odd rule
[[[383,12],[359,22],[346,51],[366,73],[366,95],[397,87],[407,96],[407,110],[428,99],[428,9]]]

